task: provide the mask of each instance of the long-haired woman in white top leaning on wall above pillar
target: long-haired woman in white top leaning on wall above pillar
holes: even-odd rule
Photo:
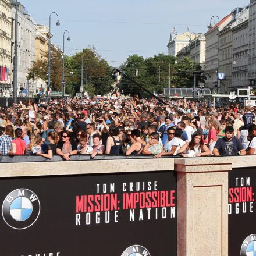
[[[202,157],[205,155],[211,155],[211,151],[204,144],[200,133],[195,131],[191,137],[190,143],[184,144],[178,151],[177,154],[182,157]]]

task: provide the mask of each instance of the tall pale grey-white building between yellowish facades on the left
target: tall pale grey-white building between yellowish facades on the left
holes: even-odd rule
[[[13,17],[13,47],[15,43],[15,13],[16,13],[16,1],[12,2],[12,17]],[[18,3],[18,84],[17,84],[17,96],[18,97],[30,97],[34,92],[34,81],[27,79],[29,69],[33,65],[35,59],[35,23],[29,16],[27,10],[21,3]]]

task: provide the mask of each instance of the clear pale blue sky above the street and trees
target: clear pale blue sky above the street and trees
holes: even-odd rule
[[[159,52],[168,54],[173,27],[177,34],[207,31],[213,15],[220,19],[249,0],[19,0],[37,24],[49,26],[52,42],[63,48],[63,32],[69,30],[65,54],[94,45],[109,65],[119,67],[129,55],[147,58]]]

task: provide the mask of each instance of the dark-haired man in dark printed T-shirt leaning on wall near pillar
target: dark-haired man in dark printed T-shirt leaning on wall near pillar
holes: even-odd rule
[[[246,155],[246,151],[243,148],[241,142],[234,137],[234,128],[227,126],[225,129],[225,137],[219,138],[216,141],[212,154],[218,155]]]

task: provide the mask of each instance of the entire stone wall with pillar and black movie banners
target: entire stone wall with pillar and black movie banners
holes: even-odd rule
[[[0,255],[254,255],[255,159],[2,157]]]

